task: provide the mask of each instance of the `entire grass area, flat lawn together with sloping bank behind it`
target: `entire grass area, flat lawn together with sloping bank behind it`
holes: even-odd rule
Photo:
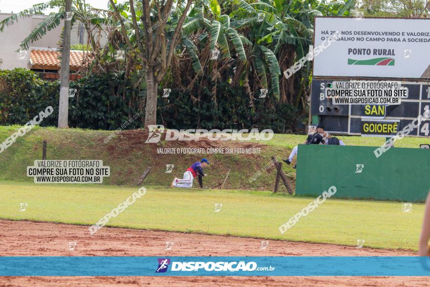
[[[0,141],[19,126],[0,127]],[[145,186],[148,193],[138,199],[108,226],[200,232],[276,240],[406,248],[416,250],[424,205],[414,203],[410,213],[402,203],[329,199],[285,234],[279,226],[309,204],[313,198],[274,195],[276,173],[263,172],[257,181],[248,179],[270,162],[271,155],[288,155],[305,135],[275,134],[268,142],[160,142],[145,144],[142,131],[124,131],[104,142],[111,131],[58,130],[35,127],[0,154],[0,218],[11,220],[57,221],[92,225],[127,199],[147,166],[152,170]],[[383,138],[339,136],[347,145],[381,146]],[[48,159],[101,159],[111,168],[103,185],[34,184],[26,177],[26,167],[42,158],[42,141],[48,141]],[[397,147],[418,148],[429,138],[404,138]],[[205,186],[215,189],[169,189],[173,177],[202,155],[163,155],[157,147],[250,147],[261,148],[257,155],[205,155],[214,162],[205,169],[210,177]],[[165,174],[166,164],[174,164]],[[231,172],[221,186],[229,168]],[[289,183],[295,186],[295,170],[283,166]],[[20,203],[28,204],[20,212]],[[222,203],[215,212],[215,203]]]

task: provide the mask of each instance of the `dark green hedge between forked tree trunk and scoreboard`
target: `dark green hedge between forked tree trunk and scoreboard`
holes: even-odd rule
[[[272,129],[285,132],[296,122],[297,110],[290,104],[276,104],[273,95],[258,99],[254,108],[249,107],[249,96],[243,87],[218,83],[222,94],[217,102],[211,100],[211,88],[199,87],[200,100],[193,102],[189,92],[173,88],[169,98],[158,99],[161,124],[175,129]],[[258,98],[258,93],[254,95]],[[270,108],[271,107],[271,108]],[[158,117],[158,116],[157,116]]]

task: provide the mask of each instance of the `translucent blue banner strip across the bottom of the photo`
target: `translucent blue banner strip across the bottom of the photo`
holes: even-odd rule
[[[430,276],[428,257],[0,257],[0,276]]]

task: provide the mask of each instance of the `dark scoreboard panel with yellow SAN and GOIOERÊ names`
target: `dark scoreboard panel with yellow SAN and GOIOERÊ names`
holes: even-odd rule
[[[326,97],[326,88],[339,79],[313,79],[311,88],[311,114],[319,115],[324,130],[332,133],[351,135],[390,137],[425,110],[430,110],[430,83],[400,81],[408,89],[408,97],[402,98],[398,105],[334,105]],[[413,129],[409,136],[430,135],[429,121],[422,122]]]

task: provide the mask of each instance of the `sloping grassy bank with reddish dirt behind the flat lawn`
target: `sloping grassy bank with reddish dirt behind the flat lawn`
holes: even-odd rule
[[[20,126],[0,126],[0,142],[16,132]],[[225,188],[248,190],[272,190],[276,173],[273,169],[263,172],[257,181],[248,182],[256,172],[270,163],[272,155],[287,157],[291,149],[302,143],[305,135],[275,134],[270,141],[258,143],[239,142],[160,142],[157,145],[145,144],[146,136],[141,131],[124,131],[116,137],[104,142],[112,131],[93,131],[82,129],[59,130],[55,128],[35,127],[32,131],[19,137],[17,141],[0,154],[0,179],[31,182],[26,177],[26,167],[33,165],[35,159],[42,159],[42,142],[48,142],[48,159],[101,159],[111,167],[110,177],[105,177],[105,184],[132,185],[139,181],[147,166],[152,167],[146,183],[150,185],[169,186],[173,177],[183,174],[183,171],[201,154],[162,155],[157,154],[158,147],[249,147],[261,148],[258,155],[204,155],[214,162],[208,169],[205,185],[220,187],[229,168],[232,168]],[[347,145],[381,146],[384,138],[339,136]],[[396,142],[398,147],[418,148],[419,144],[429,143],[429,138],[404,138]],[[172,177],[163,174],[166,164],[174,164]],[[289,183],[295,186],[296,172],[292,165],[283,165],[282,169],[289,178]]]

